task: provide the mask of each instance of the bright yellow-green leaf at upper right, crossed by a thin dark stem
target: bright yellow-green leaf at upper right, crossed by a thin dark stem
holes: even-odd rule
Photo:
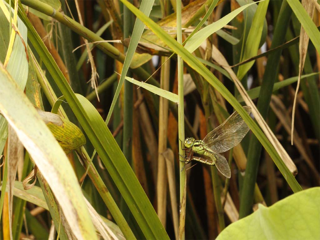
[[[267,8],[269,0],[265,0],[259,3],[257,11],[254,14],[252,25],[249,30],[247,40],[244,45],[244,54],[241,61],[255,56],[258,52],[260,39],[262,35],[263,24],[266,18]],[[240,65],[238,68],[237,77],[241,81],[244,75],[252,67],[254,61]]]

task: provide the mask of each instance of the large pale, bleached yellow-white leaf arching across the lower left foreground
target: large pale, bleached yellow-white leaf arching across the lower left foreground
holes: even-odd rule
[[[82,192],[67,156],[26,95],[0,64],[0,110],[65,213],[77,238],[97,239]]]

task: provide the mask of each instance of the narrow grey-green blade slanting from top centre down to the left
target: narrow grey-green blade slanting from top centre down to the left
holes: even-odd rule
[[[152,9],[153,3],[154,3],[154,0],[143,0],[141,2],[141,5],[140,5],[141,12],[143,12],[147,16],[149,16],[149,14],[151,12],[151,9]],[[124,83],[124,77],[127,75],[128,69],[129,69],[130,64],[131,64],[131,60],[133,58],[133,54],[134,54],[134,52],[135,52],[135,50],[137,48],[137,45],[138,45],[140,37],[141,37],[141,35],[143,33],[144,27],[145,27],[145,24],[143,22],[141,22],[141,20],[139,20],[137,18],[136,23],[134,24],[133,31],[132,31],[132,37],[130,39],[130,44],[129,44],[128,51],[127,51],[127,54],[126,54],[126,57],[125,57],[125,60],[124,60],[124,64],[123,64],[120,80],[119,80],[119,83],[118,83],[118,86],[117,86],[117,89],[116,89],[116,93],[115,93],[115,96],[114,96],[114,98],[112,100],[110,110],[108,112],[108,116],[107,116],[107,119],[106,119],[106,124],[109,123],[110,117],[111,117],[112,112],[113,112],[113,108],[115,107],[115,104],[116,104],[116,101],[118,99],[120,90],[121,90],[122,85]]]

